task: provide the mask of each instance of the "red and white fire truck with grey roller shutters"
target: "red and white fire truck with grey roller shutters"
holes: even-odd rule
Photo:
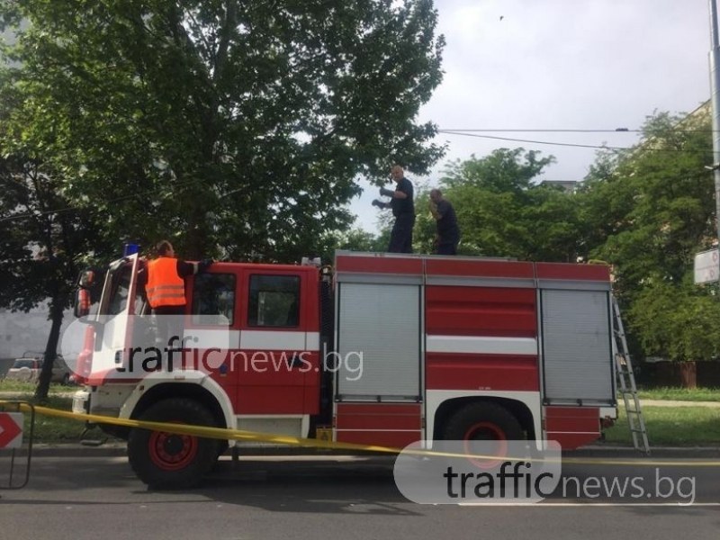
[[[617,417],[607,266],[354,252],[332,267],[218,262],[186,280],[183,342],[161,354],[138,346],[155,336],[141,265],[123,257],[106,273],[77,413],[297,437],[329,428],[334,441],[392,447],[527,438],[563,449]],[[233,444],[103,428],[158,487],[196,484]]]

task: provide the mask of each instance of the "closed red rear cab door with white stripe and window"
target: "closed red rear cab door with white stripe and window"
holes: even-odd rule
[[[243,272],[242,291],[239,351],[233,359],[238,413],[278,417],[317,414],[317,270],[306,266],[249,266]]]

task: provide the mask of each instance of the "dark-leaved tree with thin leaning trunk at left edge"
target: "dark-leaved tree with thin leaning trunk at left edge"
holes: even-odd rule
[[[63,312],[78,270],[87,253],[103,253],[100,238],[92,233],[92,216],[63,211],[65,202],[52,178],[31,157],[0,160],[0,305],[29,311],[49,301],[51,326],[35,391],[40,401],[48,396]]]

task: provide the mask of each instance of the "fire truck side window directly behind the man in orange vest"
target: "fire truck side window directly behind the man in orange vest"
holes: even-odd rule
[[[193,323],[231,326],[235,313],[235,275],[200,274],[193,287]]]

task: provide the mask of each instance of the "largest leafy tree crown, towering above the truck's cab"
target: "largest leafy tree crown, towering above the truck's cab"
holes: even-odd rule
[[[414,122],[442,73],[430,0],[0,7],[20,36],[14,137],[42,144],[108,237],[296,260],[349,226],[357,175],[442,155]]]

